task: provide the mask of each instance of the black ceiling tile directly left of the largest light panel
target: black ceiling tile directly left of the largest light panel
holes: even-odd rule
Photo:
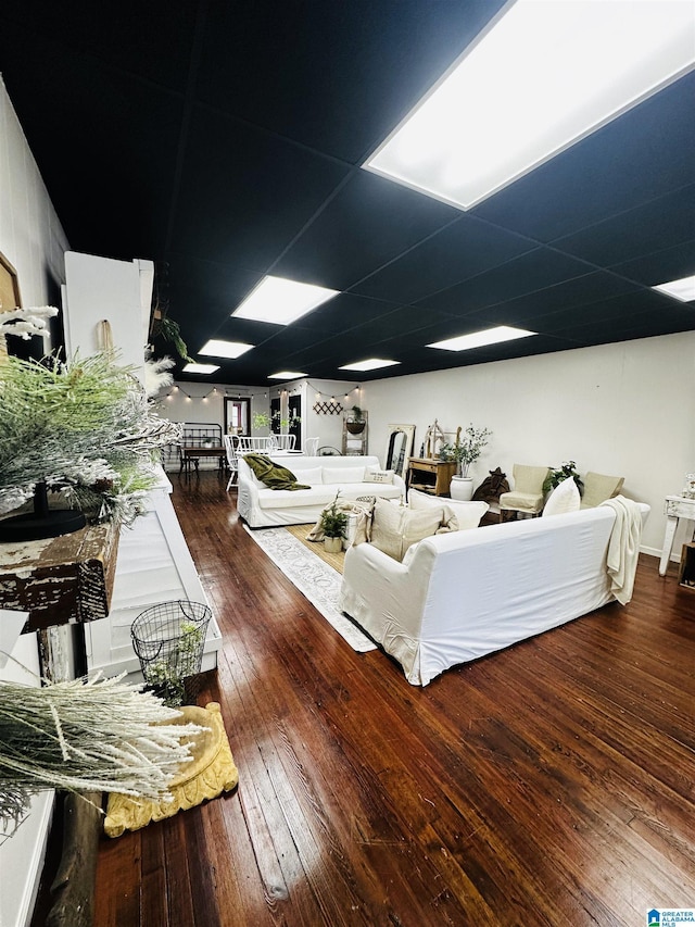
[[[197,95],[358,164],[503,2],[208,4]]]

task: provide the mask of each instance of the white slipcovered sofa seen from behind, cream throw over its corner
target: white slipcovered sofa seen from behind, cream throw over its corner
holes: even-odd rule
[[[642,521],[649,506],[640,504]],[[607,506],[437,535],[403,563],[362,543],[345,554],[339,606],[408,682],[557,627],[611,601]]]

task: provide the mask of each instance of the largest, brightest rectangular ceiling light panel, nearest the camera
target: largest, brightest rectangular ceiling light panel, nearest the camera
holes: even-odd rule
[[[694,65],[692,0],[517,0],[363,166],[470,209]]]

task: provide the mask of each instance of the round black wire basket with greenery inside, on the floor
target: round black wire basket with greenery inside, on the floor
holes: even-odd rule
[[[186,680],[201,672],[208,605],[162,602],[141,612],[130,627],[144,681],[167,705],[180,705]]]

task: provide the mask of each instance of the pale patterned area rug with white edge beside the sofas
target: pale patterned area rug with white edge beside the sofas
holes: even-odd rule
[[[376,650],[376,643],[364,635],[338,607],[341,576],[325,563],[302,540],[293,537],[286,528],[255,528],[243,526],[250,537],[265,551],[273,563],[302,592],[314,607],[321,613],[353,650],[366,653]],[[309,526],[303,526],[306,533]]]

